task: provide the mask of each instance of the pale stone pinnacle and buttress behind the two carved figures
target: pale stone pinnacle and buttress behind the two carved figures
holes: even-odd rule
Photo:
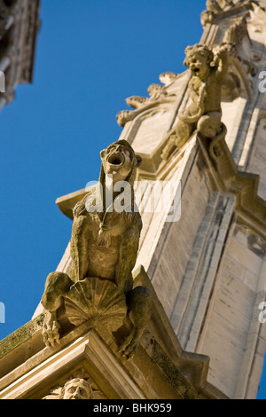
[[[235,51],[221,84],[221,136],[213,143],[191,136],[161,164],[177,114],[191,104],[186,71],[162,76],[165,85],[153,86],[150,98],[129,98],[135,110],[124,114],[129,119],[121,139],[143,157],[137,180],[182,181],[179,222],[166,224],[158,213],[142,213],[137,263],[148,271],[162,309],[150,322],[153,334],[172,360],[179,349],[210,355],[211,370],[203,379],[209,397],[254,398],[266,347],[266,327],[258,320],[258,305],[266,299],[266,205],[257,195],[264,197],[265,183],[266,107],[257,75],[265,69],[266,13],[256,2],[219,4],[223,10],[208,2],[200,43],[214,52],[228,43]],[[82,193],[59,201],[66,215]],[[68,248],[60,271],[69,273],[69,264]],[[162,328],[162,311],[181,342],[176,350],[156,330]]]

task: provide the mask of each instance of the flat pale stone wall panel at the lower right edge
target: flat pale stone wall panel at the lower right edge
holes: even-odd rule
[[[254,356],[254,339],[263,331],[258,305],[265,297],[259,287],[265,245],[249,233],[234,224],[196,347],[210,357],[208,381],[231,398],[256,396],[256,387],[246,392],[246,383],[256,361],[261,372],[264,355]]]

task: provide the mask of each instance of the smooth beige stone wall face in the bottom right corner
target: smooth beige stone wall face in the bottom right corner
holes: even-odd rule
[[[217,388],[224,387],[223,392],[228,397],[235,397],[239,369],[243,366],[241,361],[245,358],[247,348],[246,338],[250,334],[256,287],[262,270],[262,257],[247,248],[247,243],[244,243],[246,237],[241,232],[238,232],[238,240],[240,235],[241,244],[233,238],[227,247],[212,308],[208,312],[207,332],[202,335],[200,346],[200,350],[207,352],[211,358],[209,381]],[[249,279],[252,276],[253,281],[246,282],[247,275]],[[258,317],[255,321],[258,323]],[[216,348],[217,345],[220,349]],[[246,365],[251,367],[252,364]],[[237,394],[237,397],[242,396],[243,393]]]

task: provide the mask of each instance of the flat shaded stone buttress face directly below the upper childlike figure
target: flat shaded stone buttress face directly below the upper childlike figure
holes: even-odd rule
[[[206,212],[208,198],[206,177],[200,171],[200,165],[193,162],[189,177],[182,178],[180,220],[176,223],[164,224],[152,262],[148,267],[153,286],[173,325],[177,314],[176,298],[180,294],[193,243]],[[149,240],[145,244],[147,251],[148,242]],[[137,261],[141,262],[141,258],[138,257]]]

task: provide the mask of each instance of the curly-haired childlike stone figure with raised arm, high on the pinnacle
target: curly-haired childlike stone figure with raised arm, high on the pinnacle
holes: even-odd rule
[[[232,45],[223,44],[214,53],[207,45],[195,44],[185,50],[184,65],[191,70],[188,85],[190,104],[179,112],[178,121],[166,138],[161,158],[168,157],[176,148],[184,146],[193,130],[205,138],[215,138],[222,129],[221,94],[223,78],[227,74]]]

